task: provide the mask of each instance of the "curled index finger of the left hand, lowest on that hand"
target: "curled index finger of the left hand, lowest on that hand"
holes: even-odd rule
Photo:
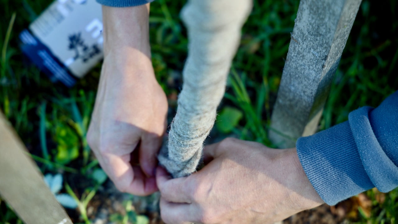
[[[139,167],[130,164],[130,155],[116,156],[103,154],[103,162],[107,167],[109,178],[115,183],[119,191],[133,195],[150,195],[157,191],[156,179],[146,178]]]

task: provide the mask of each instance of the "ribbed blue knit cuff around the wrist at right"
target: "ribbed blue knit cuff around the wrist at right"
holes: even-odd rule
[[[374,187],[361,162],[348,121],[298,138],[296,147],[308,179],[328,205]]]

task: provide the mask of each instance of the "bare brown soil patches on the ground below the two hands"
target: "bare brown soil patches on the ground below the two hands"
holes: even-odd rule
[[[107,181],[102,189],[88,205],[88,217],[93,224],[111,224],[111,214],[126,214],[125,203],[131,201],[133,210],[149,218],[149,224],[164,224],[160,219],[158,200],[160,195],[155,193],[148,197],[138,197],[119,192],[111,181]],[[336,206],[321,205],[310,210],[299,212],[285,220],[283,224],[348,224],[348,218],[355,218],[359,197],[347,199]],[[72,221],[82,222],[79,212],[68,210]]]

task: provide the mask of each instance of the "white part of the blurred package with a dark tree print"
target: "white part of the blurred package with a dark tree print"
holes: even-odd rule
[[[95,0],[57,0],[29,29],[78,78],[103,58],[101,5]]]

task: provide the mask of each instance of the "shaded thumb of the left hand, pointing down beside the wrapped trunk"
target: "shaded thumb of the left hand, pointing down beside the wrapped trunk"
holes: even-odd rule
[[[156,134],[146,134],[140,144],[139,162],[147,176],[155,176],[158,163],[157,155],[162,146],[162,137]]]

